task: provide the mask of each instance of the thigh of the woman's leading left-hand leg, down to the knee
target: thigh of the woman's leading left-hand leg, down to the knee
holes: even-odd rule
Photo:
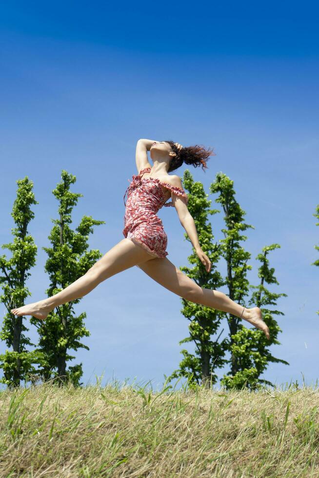
[[[125,238],[107,251],[87,273],[98,274],[99,279],[105,280],[134,265],[141,266],[144,262],[152,259],[154,259],[154,256],[151,256],[140,245]]]

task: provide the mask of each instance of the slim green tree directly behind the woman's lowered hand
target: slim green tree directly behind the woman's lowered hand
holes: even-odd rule
[[[210,209],[212,201],[207,199],[208,195],[205,194],[202,183],[194,181],[188,170],[184,173],[183,185],[189,193],[188,210],[194,218],[200,246],[209,257],[212,266],[211,271],[207,272],[192,247],[193,252],[188,260],[194,267],[183,266],[180,267],[180,270],[185,272],[200,287],[211,290],[219,289],[222,285],[225,285],[225,281],[217,270],[217,263],[221,257],[221,247],[218,243],[214,243],[212,225],[208,216],[220,211]],[[184,237],[190,242],[186,233]],[[228,340],[223,339],[219,343],[223,330],[216,339],[212,339],[212,336],[218,333],[220,322],[226,317],[226,313],[183,298],[181,301],[183,304],[181,313],[190,321],[188,326],[190,336],[180,340],[179,345],[194,342],[196,349],[195,354],[188,352],[186,349],[181,350],[184,358],[179,363],[179,369],[174,370],[168,381],[173,378],[186,377],[189,380],[189,388],[194,388],[199,383],[209,387],[211,383],[217,381],[214,370],[222,367],[228,361],[224,358],[225,351],[228,349]]]

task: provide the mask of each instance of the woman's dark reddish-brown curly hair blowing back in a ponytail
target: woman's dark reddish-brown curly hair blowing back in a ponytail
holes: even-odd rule
[[[167,171],[168,173],[178,169],[183,162],[185,164],[192,164],[195,168],[201,166],[202,169],[207,169],[206,162],[208,157],[216,156],[216,153],[214,153],[213,150],[210,150],[210,148],[204,148],[198,144],[195,144],[195,146],[186,146],[179,149],[175,142],[171,139],[166,139],[165,142],[169,143],[174,153],[176,153],[176,156],[171,159],[170,166]]]

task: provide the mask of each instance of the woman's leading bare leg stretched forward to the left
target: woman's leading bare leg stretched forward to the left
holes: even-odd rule
[[[122,239],[99,259],[83,276],[68,285],[58,294],[47,299],[11,309],[16,316],[31,315],[37,319],[46,319],[48,313],[58,305],[70,302],[88,294],[105,279],[129,269],[134,265],[154,259],[140,245],[131,239]]]

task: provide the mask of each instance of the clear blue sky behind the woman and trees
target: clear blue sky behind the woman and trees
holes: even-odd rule
[[[189,170],[207,194],[217,172],[234,180],[245,220],[255,227],[245,242],[252,284],[259,283],[261,248],[281,246],[269,256],[279,281],[270,290],[288,297],[276,307],[284,313],[281,344],[270,349],[290,365],[270,364],[263,378],[302,383],[303,374],[310,385],[318,378],[319,339],[319,269],[311,265],[319,243],[318,12],[306,2],[302,10],[291,2],[227,5],[1,6],[0,243],[12,238],[16,180],[28,176],[39,205],[29,227],[38,259],[27,286],[30,301],[43,299],[49,282],[41,248],[57,217],[52,190],[62,169],[77,177],[72,190],[84,195],[74,227],[84,214],[106,222],[90,238],[104,254],[123,238],[123,195],[136,174],[139,138],[213,147],[217,156],[206,173]],[[168,259],[186,265],[191,248],[175,209],[163,208],[159,217]],[[212,223],[222,239],[222,212]],[[219,270],[226,272],[222,261]],[[178,368],[185,347],[178,342],[188,336],[180,309],[179,296],[137,267],[101,283],[76,306],[91,332],[83,340],[90,350],[73,361],[83,363],[84,384],[103,375],[102,384],[116,378],[160,387]]]

